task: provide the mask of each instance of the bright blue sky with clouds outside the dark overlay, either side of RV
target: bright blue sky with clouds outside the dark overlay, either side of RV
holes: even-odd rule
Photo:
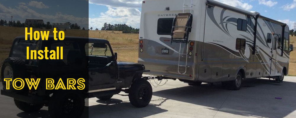
[[[99,28],[104,22],[128,24],[139,28],[142,0],[89,0],[89,27]],[[296,0],[216,0],[265,17],[287,23],[296,21]]]

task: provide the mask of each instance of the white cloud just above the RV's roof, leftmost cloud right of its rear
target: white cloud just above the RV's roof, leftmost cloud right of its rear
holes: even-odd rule
[[[215,1],[227,4],[227,5],[230,5],[230,6],[234,6],[234,7],[239,7],[239,8],[244,9],[244,10],[250,10],[250,9],[253,8],[252,5],[250,5],[248,3],[244,3],[241,0],[215,0]]]

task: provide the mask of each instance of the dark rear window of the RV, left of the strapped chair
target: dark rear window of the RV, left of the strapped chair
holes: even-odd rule
[[[160,18],[157,21],[157,34],[170,35],[174,18]]]

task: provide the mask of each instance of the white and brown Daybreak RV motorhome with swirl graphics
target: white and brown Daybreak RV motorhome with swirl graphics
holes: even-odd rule
[[[289,27],[213,0],[142,1],[138,63],[158,78],[200,84],[288,74]]]

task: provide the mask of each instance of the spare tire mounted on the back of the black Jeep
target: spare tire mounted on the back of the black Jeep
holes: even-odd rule
[[[1,81],[3,84],[3,90],[6,89],[5,88],[6,83],[4,82],[4,70],[7,66],[9,66],[12,69],[12,73],[11,73],[12,76],[8,76],[5,78],[12,78],[12,81],[13,81],[15,78],[26,78],[27,77],[27,75],[25,73],[25,62],[24,62],[24,60],[22,60],[22,58],[17,58],[17,57],[6,58],[3,61],[2,68],[1,68]],[[5,74],[7,74],[7,72],[5,72]],[[25,88],[22,90],[13,89],[12,82],[10,82],[10,85],[11,85],[10,90],[7,90],[7,91],[16,92],[16,93],[21,93],[21,92],[27,91]]]

